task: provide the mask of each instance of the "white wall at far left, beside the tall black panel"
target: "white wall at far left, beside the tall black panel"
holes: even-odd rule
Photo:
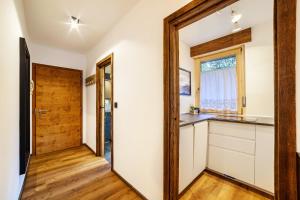
[[[25,37],[23,1],[0,1],[0,199],[18,199],[19,176],[19,37]]]

